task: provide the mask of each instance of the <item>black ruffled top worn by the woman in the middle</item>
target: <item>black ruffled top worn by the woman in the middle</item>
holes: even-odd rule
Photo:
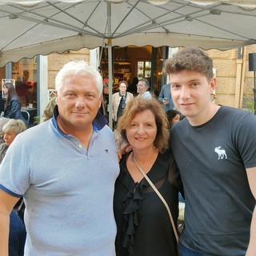
[[[145,178],[134,183],[126,167],[127,156],[120,162],[121,171],[115,183],[117,256],[175,256],[177,243],[166,206]],[[177,222],[178,188],[182,190],[182,183],[172,154],[158,154],[147,175],[165,198]]]

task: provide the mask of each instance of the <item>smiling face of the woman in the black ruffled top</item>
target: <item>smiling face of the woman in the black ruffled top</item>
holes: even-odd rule
[[[151,110],[144,110],[135,115],[126,128],[126,137],[133,150],[145,150],[154,147],[157,124]]]

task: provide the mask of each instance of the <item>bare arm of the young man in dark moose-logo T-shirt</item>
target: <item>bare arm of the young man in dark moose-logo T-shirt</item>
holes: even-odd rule
[[[256,166],[246,169],[250,190],[256,200]],[[254,206],[254,214],[250,223],[250,242],[246,252],[246,256],[256,255],[256,206]]]

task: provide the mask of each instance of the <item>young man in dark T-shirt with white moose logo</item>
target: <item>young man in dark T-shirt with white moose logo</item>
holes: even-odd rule
[[[256,255],[256,118],[210,101],[212,60],[185,49],[166,60],[174,106],[186,116],[170,147],[186,198],[182,256]]]

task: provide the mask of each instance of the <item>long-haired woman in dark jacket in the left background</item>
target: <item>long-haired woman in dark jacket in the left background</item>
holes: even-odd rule
[[[3,86],[3,91],[7,95],[5,102],[4,117],[22,119],[21,102],[18,98],[14,85],[10,82]]]

